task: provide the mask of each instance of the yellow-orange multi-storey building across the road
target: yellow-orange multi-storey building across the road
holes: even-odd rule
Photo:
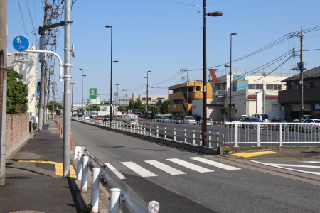
[[[203,83],[202,82],[188,82],[171,86],[169,89],[169,101],[173,104],[169,105],[169,112],[173,116],[191,116],[192,101],[203,99]],[[207,83],[207,99],[212,99],[213,89],[210,82]],[[188,112],[187,112],[188,111]],[[187,115],[188,114],[188,115]]]

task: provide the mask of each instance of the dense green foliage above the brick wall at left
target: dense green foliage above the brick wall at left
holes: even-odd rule
[[[8,71],[8,94],[6,102],[6,114],[26,113],[28,111],[27,85],[19,81],[23,75],[14,70]],[[17,80],[19,79],[19,80]]]

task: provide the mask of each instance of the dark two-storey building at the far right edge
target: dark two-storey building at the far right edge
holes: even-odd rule
[[[284,106],[286,119],[299,119],[301,109],[301,81],[300,74],[288,77],[286,90],[279,92],[279,102]],[[303,105],[304,115],[311,115],[320,119],[320,66],[303,73]]]

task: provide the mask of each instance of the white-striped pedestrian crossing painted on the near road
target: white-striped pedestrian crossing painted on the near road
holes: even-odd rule
[[[207,158],[201,157],[192,157],[187,159],[178,159],[178,158],[169,158],[161,160],[144,160],[141,163],[135,162],[121,162],[125,168],[129,168],[135,174],[143,177],[156,177],[159,173],[164,172],[169,175],[186,175],[188,172],[197,172],[197,173],[213,173],[215,168],[223,169],[223,170],[241,170],[241,168],[237,168],[231,165],[226,165],[224,163],[219,163],[215,160],[209,160]],[[198,164],[196,164],[198,163]],[[199,163],[201,163],[199,165]],[[168,165],[170,164],[170,165]],[[122,175],[119,170],[114,168],[110,163],[105,163],[110,170],[114,172],[120,179],[125,179],[124,175]],[[150,165],[148,167],[146,165]],[[175,168],[178,167],[178,168]],[[148,167],[148,168],[144,168]],[[151,171],[152,170],[152,171]]]

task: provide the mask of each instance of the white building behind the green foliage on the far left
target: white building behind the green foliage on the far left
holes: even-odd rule
[[[30,48],[36,50],[36,45],[33,44]],[[28,89],[28,113],[33,116],[38,116],[37,111],[37,54],[28,53],[30,60],[28,62],[17,62],[14,60],[14,54],[8,53],[8,69],[14,70],[23,75],[22,82],[27,85]]]

